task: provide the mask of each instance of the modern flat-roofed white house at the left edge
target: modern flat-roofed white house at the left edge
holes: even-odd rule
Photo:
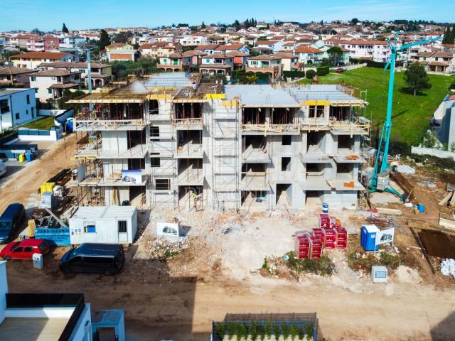
[[[26,124],[37,114],[33,89],[0,89],[0,132]]]

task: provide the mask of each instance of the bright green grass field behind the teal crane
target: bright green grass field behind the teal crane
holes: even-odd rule
[[[392,141],[400,141],[411,146],[418,144],[422,132],[428,128],[429,119],[448,93],[448,88],[455,77],[429,75],[432,88],[413,97],[402,91],[406,87],[403,72],[395,72],[395,91],[392,107]],[[362,67],[342,74],[330,73],[319,77],[319,84],[338,84],[344,81],[359,90],[367,90],[369,103],[365,116],[373,120],[375,126],[382,128],[387,108],[387,87],[389,71],[373,67]],[[311,82],[304,80],[305,84]]]

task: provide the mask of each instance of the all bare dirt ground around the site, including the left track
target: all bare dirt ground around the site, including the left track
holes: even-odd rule
[[[66,158],[60,141],[18,171],[14,178],[20,176],[21,182],[13,178],[0,189],[0,209],[10,202],[28,202],[43,181],[73,166],[74,137],[66,140],[66,148]],[[436,197],[429,195],[429,200]],[[44,271],[33,269],[30,261],[9,261],[9,288],[82,292],[92,310],[124,308],[127,340],[209,340],[211,321],[223,320],[226,313],[315,311],[326,340],[455,340],[455,280],[432,274],[409,229],[434,224],[434,216],[400,208],[404,215],[396,219],[395,247],[402,265],[387,284],[372,283],[346,261],[348,252],[358,250],[353,243],[358,243],[355,236],[368,212],[331,211],[353,236],[352,245],[346,251],[328,251],[336,265],[332,276],[309,274],[296,281],[266,278],[259,269],[264,257],[293,249],[297,230],[316,226],[316,210],[289,215],[275,210],[269,217],[262,212],[160,209],[140,212],[139,239],[127,248],[120,274],[63,274],[58,261],[67,248],[60,247],[45,256]],[[156,259],[156,222],[174,218],[185,229],[184,247]],[[437,267],[438,260],[433,261]]]

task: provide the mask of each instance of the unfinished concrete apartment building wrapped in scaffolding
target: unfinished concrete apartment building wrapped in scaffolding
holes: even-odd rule
[[[277,89],[162,73],[70,101],[86,205],[355,207],[367,103],[340,85]]]

